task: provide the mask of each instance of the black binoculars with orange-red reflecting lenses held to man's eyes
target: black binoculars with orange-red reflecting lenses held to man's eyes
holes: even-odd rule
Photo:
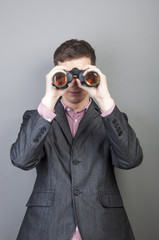
[[[70,72],[65,71],[57,72],[52,78],[52,85],[57,88],[67,88],[68,83],[70,83],[73,78],[78,78],[82,85],[87,87],[96,87],[99,85],[100,77],[95,71],[89,71],[85,76],[83,73],[85,70],[79,70],[78,68],[73,68]]]

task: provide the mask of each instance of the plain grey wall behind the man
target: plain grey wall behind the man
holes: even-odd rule
[[[159,1],[1,0],[0,240],[16,239],[35,180],[35,170],[11,165],[10,146],[23,112],[44,95],[54,50],[70,38],[95,48],[111,95],[140,139],[143,164],[116,175],[136,239],[159,239]]]

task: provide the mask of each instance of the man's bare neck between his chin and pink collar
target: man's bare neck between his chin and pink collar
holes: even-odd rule
[[[64,96],[62,96],[63,103],[74,110],[74,112],[79,112],[89,104],[89,96],[82,100],[79,103],[71,103]]]

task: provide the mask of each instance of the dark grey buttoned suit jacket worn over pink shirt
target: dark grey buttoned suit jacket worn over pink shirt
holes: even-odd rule
[[[114,166],[130,169],[142,150],[125,114],[117,107],[102,118],[92,101],[73,139],[60,101],[49,123],[27,111],[12,163],[36,167],[18,240],[69,240],[79,227],[82,240],[134,239],[114,175]]]

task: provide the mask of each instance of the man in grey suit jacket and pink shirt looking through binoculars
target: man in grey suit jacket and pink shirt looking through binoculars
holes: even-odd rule
[[[89,43],[61,44],[45,96],[37,110],[24,114],[11,160],[24,170],[36,167],[37,178],[18,240],[134,239],[114,167],[138,166],[142,150],[95,61]],[[78,75],[66,89],[53,86],[56,73],[74,68],[84,76],[95,71],[99,86],[82,85]]]

